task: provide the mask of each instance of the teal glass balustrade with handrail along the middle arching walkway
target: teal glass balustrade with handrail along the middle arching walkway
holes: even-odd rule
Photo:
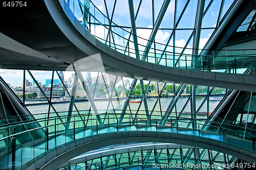
[[[50,118],[38,118],[1,125],[0,131],[3,135],[0,139],[1,162],[3,162],[1,168],[14,166],[24,169],[36,160],[67,144],[94,135],[119,131],[153,131],[194,135],[228,142],[229,145],[254,151],[255,130],[236,124],[211,122],[207,116],[205,118],[200,116],[201,118],[198,119],[168,116],[166,123],[162,124],[163,115],[160,113],[152,114],[148,118],[144,113],[134,111],[133,113],[126,113],[122,122],[119,123],[121,110],[115,110],[115,113],[111,111],[103,113],[103,110],[99,110],[99,112],[103,126],[100,126],[96,115],[93,112],[89,114],[88,110],[82,111],[82,114],[72,115],[70,122],[66,122],[67,115],[56,116],[55,113],[44,113],[45,117],[50,114]],[[25,117],[23,116],[23,118]],[[10,118],[18,120],[16,117]]]

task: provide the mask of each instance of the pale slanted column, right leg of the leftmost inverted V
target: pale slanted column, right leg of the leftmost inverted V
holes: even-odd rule
[[[91,93],[90,93],[90,91],[89,91],[89,89],[88,89],[88,87],[86,85],[86,81],[84,80],[84,78],[83,78],[83,76],[82,76],[80,71],[76,71],[76,74],[77,74],[78,78],[80,79],[80,81],[82,83],[84,91],[86,91],[87,98],[88,98],[88,100],[89,100],[89,102],[90,102],[90,104],[91,104],[91,106],[92,106],[92,108],[94,110],[94,113],[95,113],[95,115],[96,115],[96,117],[98,119],[99,126],[103,126],[102,120],[101,120],[101,118],[99,116],[98,109],[97,109],[97,107],[96,107],[96,105],[95,105],[95,103],[93,101],[93,98],[91,96]]]

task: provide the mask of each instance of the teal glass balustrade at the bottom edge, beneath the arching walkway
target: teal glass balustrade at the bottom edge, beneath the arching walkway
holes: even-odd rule
[[[201,164],[201,167],[204,167],[203,169],[206,169],[207,167],[211,167],[211,169],[228,169],[224,167],[224,160],[219,160],[218,163],[214,164],[206,159],[181,159],[183,156],[180,152],[173,153],[169,156],[170,154],[165,150],[158,151],[159,152],[156,152],[156,150],[141,150],[138,152],[133,151],[130,154],[118,153],[115,155],[102,156],[100,158],[87,159],[86,161],[70,165],[63,169],[122,169],[122,167],[125,169],[152,169],[152,167],[160,169],[157,168],[156,165],[159,167],[160,165],[163,165],[166,169],[175,167],[196,169],[196,167],[199,166],[199,163]],[[120,161],[120,159],[122,161]]]

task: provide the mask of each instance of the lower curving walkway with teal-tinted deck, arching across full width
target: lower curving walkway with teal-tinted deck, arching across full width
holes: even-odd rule
[[[24,135],[24,134],[23,134]],[[75,139],[75,140],[74,140]],[[147,125],[111,125],[76,128],[67,133],[49,135],[16,147],[15,168],[54,169],[85,152],[112,144],[131,142],[166,142],[215,150],[249,162],[256,162],[252,142],[238,137],[188,128]],[[47,144],[48,143],[48,144]],[[48,150],[47,150],[48,147]],[[7,151],[6,151],[7,152]],[[12,168],[12,151],[2,152],[1,169]],[[10,153],[11,152],[11,153]]]

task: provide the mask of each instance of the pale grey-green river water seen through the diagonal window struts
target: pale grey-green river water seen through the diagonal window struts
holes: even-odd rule
[[[179,113],[181,109],[184,107],[187,97],[181,97],[177,104],[177,112]],[[154,99],[154,101],[147,101],[147,106],[148,110],[152,111],[157,99]],[[196,98],[196,108],[198,109],[201,103],[203,102],[204,98]],[[157,103],[154,111],[166,111],[168,105],[172,101],[172,98],[161,98],[160,102]],[[27,102],[27,101],[26,101]],[[42,101],[28,101],[30,104],[33,103],[44,103]],[[209,101],[209,112],[214,111],[214,109],[217,107],[220,101]],[[112,100],[110,101],[95,101],[96,107],[98,110],[121,110],[123,108],[123,101],[117,101],[117,100]],[[160,109],[160,104],[161,104],[161,109]],[[90,108],[90,103],[89,102],[77,102],[75,103],[76,107],[78,110],[88,110]],[[53,104],[54,108],[56,109],[57,112],[62,112],[62,111],[68,111],[69,108],[69,103],[55,103]],[[139,103],[130,103],[130,108],[131,110],[138,110]],[[49,105],[39,105],[39,106],[27,106],[27,108],[30,110],[32,114],[36,113],[48,113]],[[129,109],[129,108],[127,108]],[[75,110],[75,108],[73,108]],[[140,110],[145,110],[144,109],[144,104],[142,102]],[[51,108],[50,112],[54,112],[54,110]],[[175,109],[173,110],[175,112]],[[190,102],[187,104],[186,108],[184,109],[184,112],[190,112]],[[207,112],[207,102],[203,105],[201,108],[200,112]]]

